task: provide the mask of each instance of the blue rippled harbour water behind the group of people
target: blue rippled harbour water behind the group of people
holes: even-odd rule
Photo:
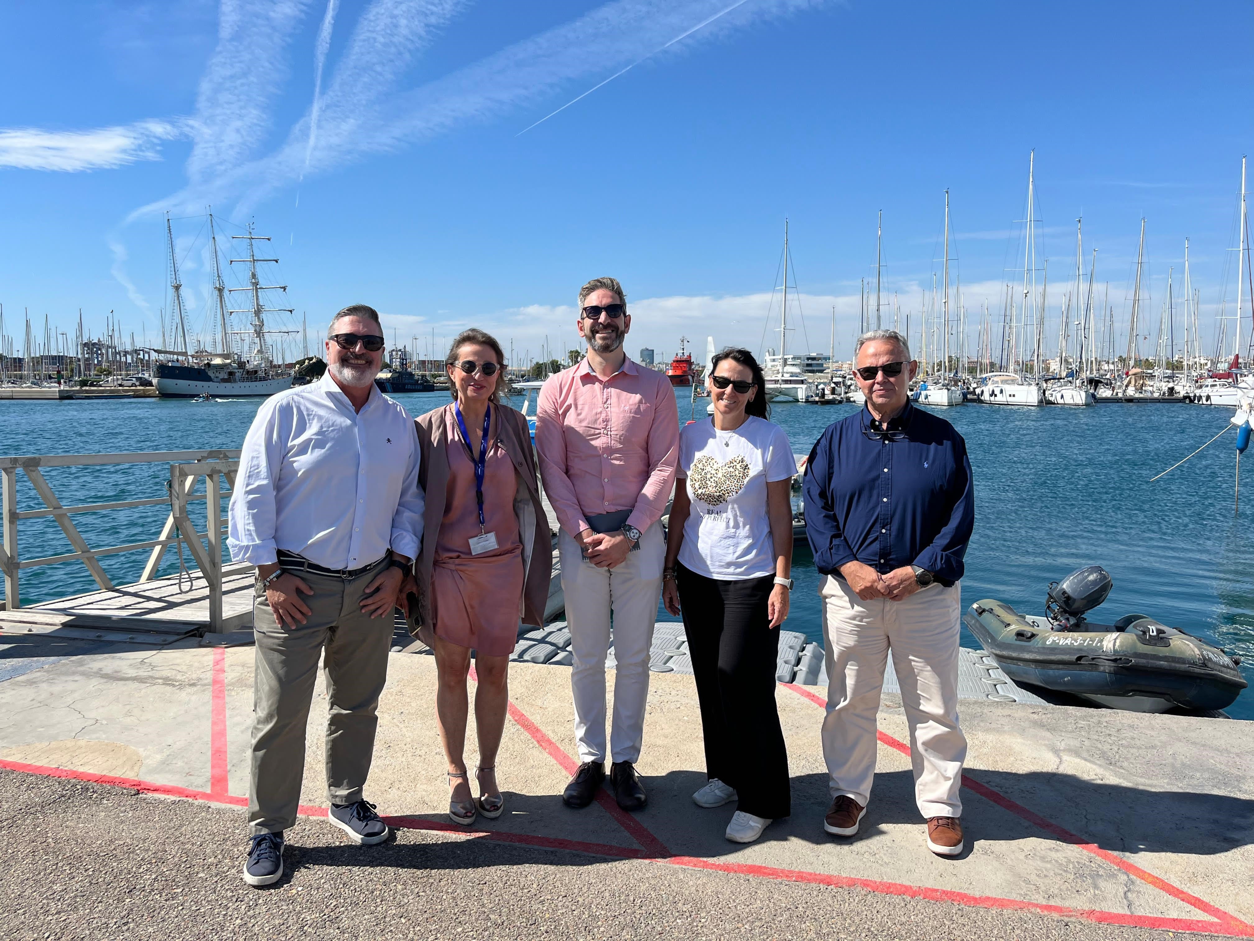
[[[676,389],[681,423],[705,419],[688,389]],[[411,414],[448,401],[446,393],[395,396]],[[519,404],[520,400],[514,400]],[[0,453],[85,454],[123,450],[238,448],[260,399],[193,403],[177,399],[6,401],[0,405]],[[830,422],[853,405],[780,404],[772,410],[798,453],[808,453]],[[966,437],[976,477],[976,533],[967,553],[963,605],[983,597],[1040,612],[1046,586],[1082,565],[1110,571],[1115,588],[1093,620],[1141,612],[1195,632],[1245,660],[1254,678],[1254,479],[1234,516],[1235,450],[1224,435],[1166,477],[1150,483],[1223,429],[1228,409],[1102,404],[1096,408],[943,409]],[[65,504],[135,499],[164,492],[161,465],[51,468]],[[41,506],[19,477],[19,506]],[[89,513],[75,522],[92,546],[155,538],[168,511]],[[51,519],[23,521],[21,556],[73,551]],[[134,581],[147,552],[108,556],[118,583]],[[188,560],[191,565],[191,560]],[[162,573],[178,568],[169,551]],[[798,580],[789,630],[821,642],[819,575],[806,547],[794,560]],[[24,570],[25,603],[90,591],[82,565]],[[660,620],[672,620],[660,611]],[[964,646],[978,646],[964,632]],[[1228,710],[1254,719],[1246,691]]]

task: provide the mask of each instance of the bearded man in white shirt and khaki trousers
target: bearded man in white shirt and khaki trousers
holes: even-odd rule
[[[384,355],[379,314],[364,304],[345,307],[327,338],[322,379],[273,395],[257,412],[231,494],[231,557],[257,566],[252,839],[243,872],[251,886],[283,875],[283,831],[296,823],[324,652],[330,822],[357,843],[389,836],[361,789],[393,609],[423,537],[418,437],[405,409],[375,388]]]

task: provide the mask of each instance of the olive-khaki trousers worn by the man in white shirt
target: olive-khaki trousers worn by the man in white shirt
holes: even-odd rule
[[[256,591],[252,609],[257,651],[253,669],[252,782],[248,827],[277,833],[296,823],[305,777],[305,730],[314,700],[319,660],[326,671],[326,793],[337,804],[361,800],[375,749],[375,710],[387,680],[393,619],[370,617],[360,603],[366,586],[382,571],[345,581],[297,572],[314,588],[301,595],[311,614],[305,624],[280,627],[266,593]]]

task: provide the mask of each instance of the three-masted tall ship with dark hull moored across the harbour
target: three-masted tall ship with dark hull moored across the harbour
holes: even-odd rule
[[[257,236],[252,233],[252,225],[248,226],[248,235],[231,236],[248,243],[247,258],[229,258],[229,263],[248,266],[247,287],[227,287],[222,282],[222,267],[218,261],[218,240],[213,227],[213,216],[209,215],[209,241],[213,255],[213,291],[217,295],[217,320],[219,330],[221,350],[197,349],[188,350],[187,340],[187,312],[183,307],[183,285],[178,275],[178,258],[174,253],[174,235],[171,230],[169,216],[166,217],[166,237],[169,243],[171,287],[174,301],[174,336],[176,345],[182,341],[182,349],[153,350],[158,355],[173,356],[174,359],[159,361],[153,365],[153,385],[157,394],[168,399],[187,399],[197,395],[213,396],[253,396],[273,395],[287,389],[292,384],[291,370],[280,369],[271,355],[268,334],[290,332],[266,329],[266,314],[287,312],[291,307],[267,307],[262,299],[262,291],[287,291],[287,285],[262,285],[257,277],[257,265],[278,263],[278,258],[258,258],[256,251],[257,242],[268,242],[270,236]],[[227,294],[247,292],[252,297],[252,306],[231,310],[227,307]],[[231,314],[248,314],[248,330],[231,330]],[[236,350],[233,338],[247,338],[241,340],[241,345],[251,346],[247,355]]]

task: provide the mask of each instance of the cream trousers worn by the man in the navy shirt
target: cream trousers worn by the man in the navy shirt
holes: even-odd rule
[[[924,817],[961,817],[967,738],[958,728],[959,586],[863,601],[848,582],[828,576],[819,595],[829,678],[823,757],[831,795],[846,794],[863,807],[870,800],[875,714],[892,649],[910,730],[915,803]]]

